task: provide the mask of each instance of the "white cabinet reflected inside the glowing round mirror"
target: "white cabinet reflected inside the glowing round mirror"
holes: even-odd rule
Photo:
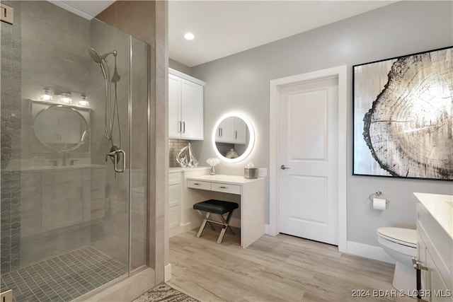
[[[246,144],[247,125],[239,117],[228,117],[217,127],[215,141],[230,144]]]

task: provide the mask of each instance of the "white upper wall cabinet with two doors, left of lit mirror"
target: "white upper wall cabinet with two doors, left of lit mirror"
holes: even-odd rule
[[[205,82],[168,69],[168,137],[203,139]]]

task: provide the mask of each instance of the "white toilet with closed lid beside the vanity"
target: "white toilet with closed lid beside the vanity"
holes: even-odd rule
[[[411,294],[417,289],[412,263],[412,257],[417,257],[417,232],[409,228],[378,228],[377,241],[396,260],[392,285],[398,291]]]

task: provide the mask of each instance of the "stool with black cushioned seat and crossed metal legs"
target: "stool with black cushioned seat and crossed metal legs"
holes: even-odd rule
[[[217,199],[209,199],[205,200],[204,202],[198,202],[197,204],[194,204],[193,209],[200,211],[200,214],[202,214],[202,212],[206,213],[205,215],[202,214],[205,217],[205,219],[201,223],[200,230],[198,230],[197,238],[200,238],[201,233],[205,229],[207,222],[210,223],[210,226],[213,230],[215,230],[215,228],[214,226],[212,226],[212,223],[218,223],[223,225],[222,231],[220,232],[219,238],[217,239],[217,243],[222,243],[222,239],[224,238],[226,228],[229,228],[231,233],[233,233],[234,235],[234,231],[231,230],[231,227],[229,226],[229,220],[231,219],[231,214],[233,214],[234,209],[237,208],[239,208],[239,204],[236,204],[235,202],[223,202],[222,200]],[[210,219],[210,215],[212,213],[219,214],[219,216],[222,218],[222,222]],[[225,213],[228,213],[228,216],[226,216],[226,220],[223,215]]]

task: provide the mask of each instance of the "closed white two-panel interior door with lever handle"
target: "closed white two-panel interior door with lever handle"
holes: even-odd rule
[[[279,231],[338,245],[338,78],[280,88]]]

